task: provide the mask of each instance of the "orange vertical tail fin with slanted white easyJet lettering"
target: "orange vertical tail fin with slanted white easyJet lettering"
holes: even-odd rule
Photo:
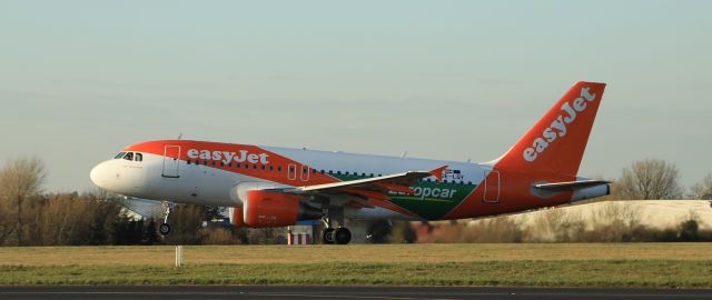
[[[576,176],[605,83],[576,82],[495,163],[500,169]]]

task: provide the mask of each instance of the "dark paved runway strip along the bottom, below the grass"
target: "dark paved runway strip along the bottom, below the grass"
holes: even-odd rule
[[[305,286],[81,286],[0,287],[0,299],[712,299],[712,290]]]

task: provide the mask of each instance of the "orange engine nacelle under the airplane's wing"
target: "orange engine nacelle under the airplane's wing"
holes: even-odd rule
[[[322,218],[322,210],[301,203],[298,196],[261,190],[248,192],[244,209],[249,227],[285,227]]]

